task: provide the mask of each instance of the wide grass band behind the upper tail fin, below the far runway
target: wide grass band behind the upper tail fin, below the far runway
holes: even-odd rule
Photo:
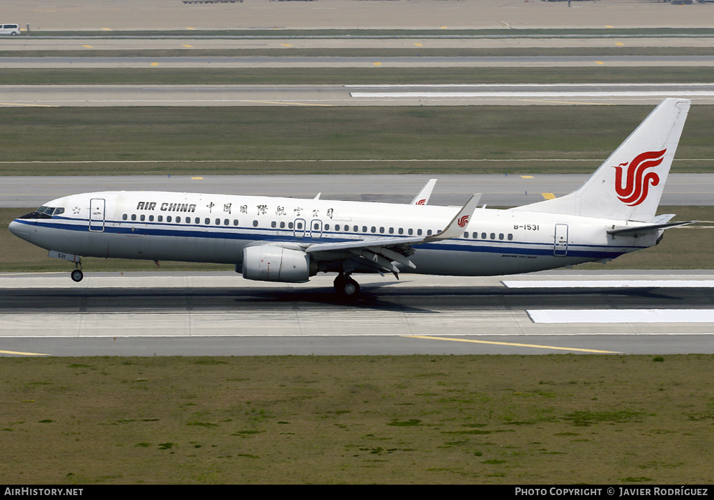
[[[651,110],[652,106],[0,108],[0,175],[589,173]],[[711,157],[713,128],[713,106],[693,106],[673,171],[712,171],[710,163],[688,159]],[[593,161],[523,161],[553,158]],[[413,159],[445,161],[390,161]]]

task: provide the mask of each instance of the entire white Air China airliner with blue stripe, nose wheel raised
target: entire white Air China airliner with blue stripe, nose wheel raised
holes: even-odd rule
[[[235,264],[243,278],[302,283],[336,273],[493,276],[608,261],[659,243],[673,215],[655,215],[689,110],[665,99],[590,179],[566,196],[513,209],[230,194],[107,191],[49,201],[10,223],[21,239],[81,257]]]

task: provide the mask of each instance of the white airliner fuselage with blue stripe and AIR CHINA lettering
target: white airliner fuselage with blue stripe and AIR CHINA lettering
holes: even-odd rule
[[[45,249],[120,259],[240,266],[248,245],[328,243],[436,234],[458,207],[150,191],[66,196],[51,218],[16,219],[11,231]],[[455,239],[413,246],[421,274],[489,276],[614,259],[653,246],[606,231],[631,221],[523,210],[476,209]]]

